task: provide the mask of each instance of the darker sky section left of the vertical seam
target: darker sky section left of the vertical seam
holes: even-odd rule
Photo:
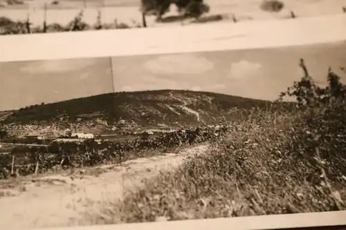
[[[111,92],[110,57],[0,63],[0,111]]]

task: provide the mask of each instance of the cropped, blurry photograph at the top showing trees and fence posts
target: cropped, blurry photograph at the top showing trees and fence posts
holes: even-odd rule
[[[0,0],[0,35],[323,20],[344,13],[346,0]]]

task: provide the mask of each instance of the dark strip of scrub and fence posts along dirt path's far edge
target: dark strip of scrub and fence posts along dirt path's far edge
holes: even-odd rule
[[[225,128],[197,127],[125,142],[85,140],[53,142],[48,146],[16,146],[10,154],[0,155],[0,179],[160,155],[179,147],[214,141],[219,133],[226,131]]]

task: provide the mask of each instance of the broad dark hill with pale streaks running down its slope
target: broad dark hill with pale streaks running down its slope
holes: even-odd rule
[[[120,120],[137,127],[191,126],[219,119],[238,119],[239,109],[268,108],[271,102],[190,90],[107,93],[13,111],[4,124],[76,124]],[[99,122],[100,123],[100,122]]]

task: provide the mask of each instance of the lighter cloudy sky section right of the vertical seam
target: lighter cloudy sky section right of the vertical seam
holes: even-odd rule
[[[189,89],[255,99],[277,96],[303,76],[323,84],[327,70],[346,79],[346,42],[319,46],[113,57],[115,91]]]

